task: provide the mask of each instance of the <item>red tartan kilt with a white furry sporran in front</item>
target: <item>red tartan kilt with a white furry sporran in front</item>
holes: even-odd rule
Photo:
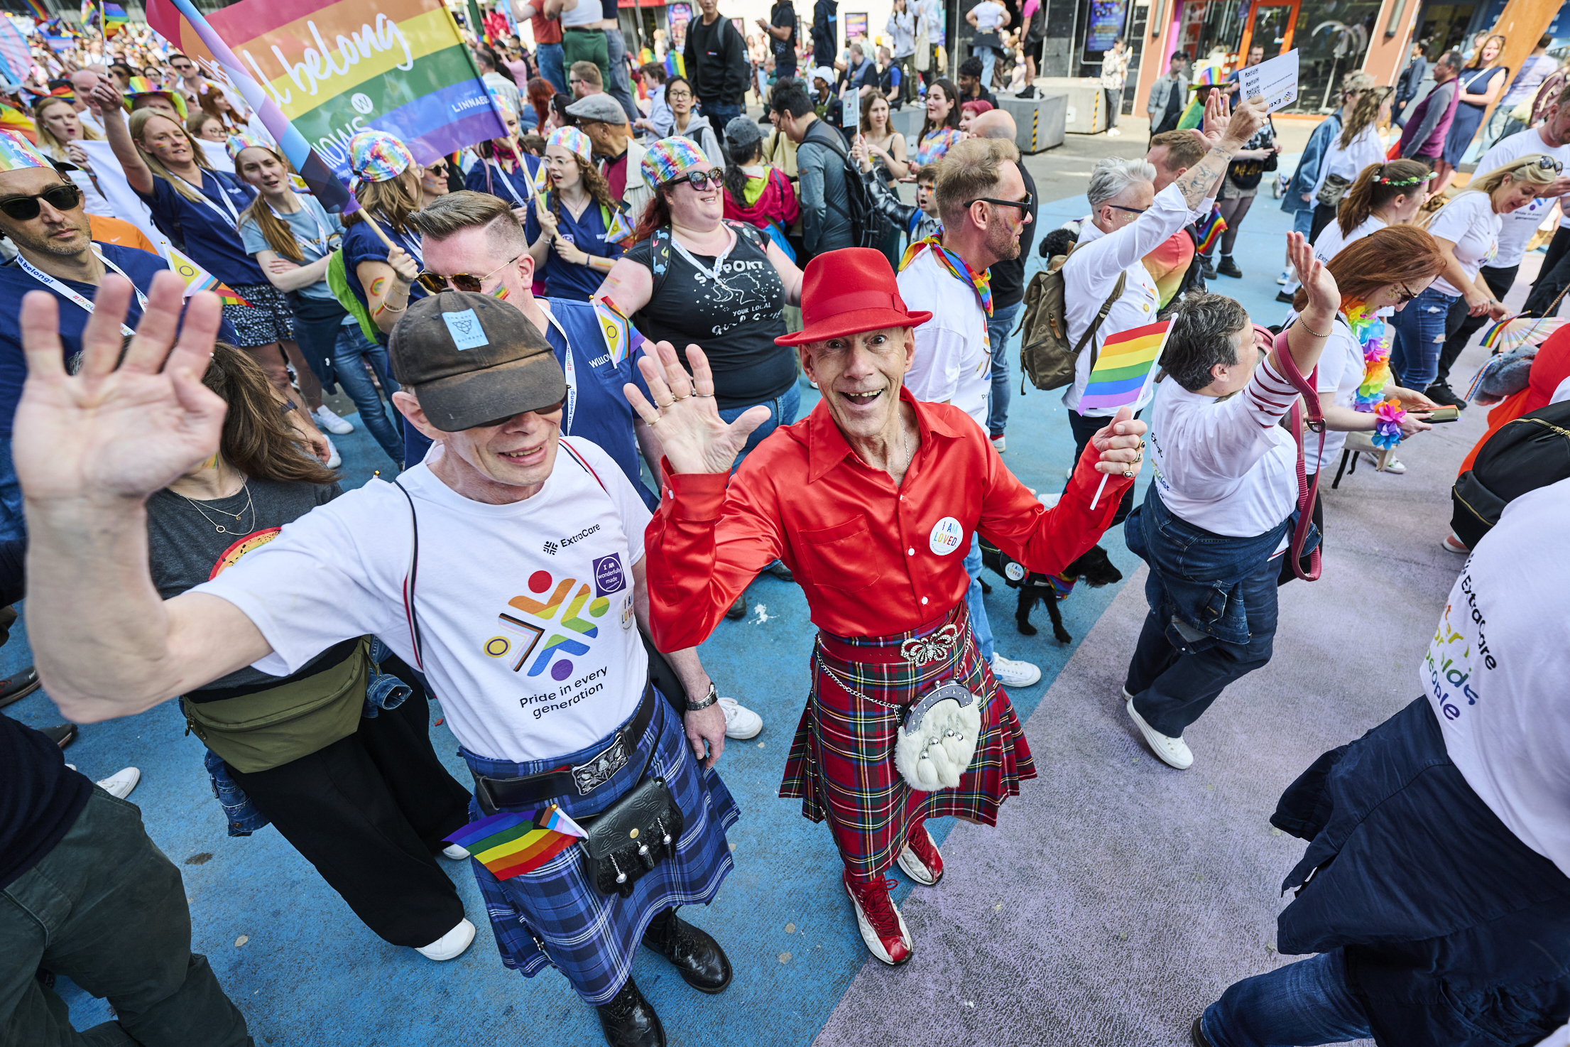
[[[939,678],[953,678],[983,697],[977,753],[955,790],[912,790],[893,766],[895,733],[903,714],[846,692],[834,677],[820,669],[816,659],[821,648],[813,653],[813,691],[796,725],[780,796],[801,797],[804,818],[827,818],[840,857],[857,879],[871,879],[893,865],[911,827],[928,818],[953,815],[966,821],[997,824],[999,805],[1019,794],[1020,782],[1036,777],[1014,706],[992,677],[992,667],[981,659],[975,637],[966,629],[964,615],[961,603],[945,618],[964,629],[966,648],[958,666],[940,666],[936,672],[922,673],[923,678],[911,688],[864,686],[864,680],[846,672],[857,666],[826,658],[835,673],[853,680],[853,688],[879,702],[909,705],[936,686]],[[923,626],[915,634],[929,631]],[[890,645],[898,647],[895,640],[900,639],[904,637],[879,640],[884,650],[876,651],[876,656],[881,659]]]

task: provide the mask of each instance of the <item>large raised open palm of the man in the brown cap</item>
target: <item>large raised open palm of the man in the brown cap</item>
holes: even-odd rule
[[[184,289],[174,273],[154,278],[119,359],[132,287],[124,276],[107,275],[82,331],[75,375],[66,374],[58,300],[42,290],[22,298],[27,385],[13,454],[30,504],[141,499],[217,454],[226,408],[201,377],[221,306],[214,294],[193,295],[181,328]]]

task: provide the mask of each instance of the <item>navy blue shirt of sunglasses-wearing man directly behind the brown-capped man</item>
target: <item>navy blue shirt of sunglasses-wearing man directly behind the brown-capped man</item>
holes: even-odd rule
[[[628,350],[622,355],[620,363],[612,363],[604,333],[600,330],[600,319],[592,305],[559,298],[537,301],[550,308],[551,316],[571,341],[568,348],[562,333],[556,330],[556,323],[546,325],[545,341],[556,350],[556,363],[562,364],[564,370],[567,353],[573,355],[578,399],[570,422],[567,410],[562,410],[562,433],[581,436],[611,455],[653,512],[659,507],[659,496],[644,485],[642,458],[637,451],[637,438],[633,435],[633,422],[637,421],[637,416],[622,392],[622,386],[631,381],[645,397],[648,396],[644,375],[637,370],[637,353],[642,350],[644,336],[628,325]],[[418,465],[427,451],[430,451],[430,441],[413,425],[403,425],[403,468]]]

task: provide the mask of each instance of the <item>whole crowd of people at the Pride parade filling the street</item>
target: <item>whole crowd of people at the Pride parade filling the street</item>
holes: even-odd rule
[[[743,812],[717,764],[763,717],[699,647],[760,573],[799,586],[818,629],[779,793],[829,823],[868,953],[906,964],[887,874],[937,887],[926,821],[992,826],[1036,777],[1008,692],[1041,670],[997,650],[983,548],[1060,578],[1123,527],[1149,568],[1127,725],[1190,768],[1185,728],[1270,662],[1284,587],[1319,573],[1319,476],[1349,433],[1393,449],[1463,403],[1449,369],[1570,195],[1570,88],[1501,124],[1426,213],[1448,152],[1386,160],[1391,99],[1353,74],[1291,179],[1289,309],[1262,325],[1206,279],[1236,275],[1280,151],[1264,99],[1190,104],[1174,57],[1146,157],[1101,160],[1090,213],[1041,231],[999,55],[936,75],[931,0],[896,0],[892,50],[843,55],[816,17],[832,0],[810,41],[779,0],[766,47],[699,8],[685,75],[636,67],[609,2],[517,5],[528,53],[491,11],[501,47],[474,57],[504,135],[430,163],[355,135],[347,215],[140,28],[75,67],[50,57],[27,133],[0,132],[0,596],[25,590],[36,658],[0,705],[39,683],[83,724],[177,702],[229,832],[272,824],[429,961],[476,937],[441,868],[468,862],[502,964],[559,972],[612,1047],[664,1044],[639,945],[702,994],[733,981],[678,910],[733,868]],[[1016,33],[1039,17],[1027,3]],[[969,20],[1002,50],[1003,5]],[[1493,46],[1440,58],[1413,141],[1433,108],[1504,89],[1482,75]],[[906,143],[890,113],[915,80]],[[228,294],[187,295],[122,221],[132,202]],[[1217,213],[1229,235],[1206,232]],[[1063,301],[1061,493],[1002,457],[1038,243]],[[1097,358],[1154,323],[1159,372],[1102,403]],[[1567,378],[1570,353],[1545,348],[1490,435],[1570,399]],[[328,436],[350,422],[322,403],[338,385],[391,463],[356,490]],[[1444,537],[1471,556],[1424,695],[1325,753],[1272,819],[1309,841],[1280,947],[1314,956],[1229,987],[1193,1016],[1196,1047],[1526,1047],[1570,1022],[1570,719],[1539,667],[1570,642],[1551,538],[1570,490],[1551,479],[1476,549]],[[82,658],[83,634],[111,656]],[[473,790],[433,752],[433,697]],[[0,1042],[250,1044],[190,951],[157,827],[111,799],[135,777],[77,774],[74,730],[0,717]],[[77,1034],[38,972],[115,1019]]]

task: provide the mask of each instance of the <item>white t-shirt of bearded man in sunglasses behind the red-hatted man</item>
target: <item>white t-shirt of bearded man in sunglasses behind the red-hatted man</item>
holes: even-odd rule
[[[904,388],[917,400],[953,403],[986,432],[992,347],[981,300],[937,261],[931,248],[904,267],[898,283],[907,309],[933,314],[915,328],[915,359],[904,375]]]

